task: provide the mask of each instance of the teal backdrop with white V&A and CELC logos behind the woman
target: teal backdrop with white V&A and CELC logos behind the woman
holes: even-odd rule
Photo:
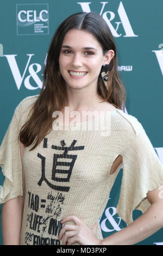
[[[18,103],[40,93],[43,66],[55,30],[66,17],[80,11],[96,11],[108,23],[117,45],[120,78],[126,88],[126,113],[143,125],[163,163],[162,0],[1,0],[0,143]],[[127,225],[116,214],[122,173],[123,169],[99,216],[103,237]],[[2,185],[2,172],[0,180]],[[133,219],[141,214],[135,210]],[[163,229],[137,245],[163,245]]]

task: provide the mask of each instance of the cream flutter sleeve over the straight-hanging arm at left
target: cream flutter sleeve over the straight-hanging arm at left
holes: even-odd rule
[[[3,186],[0,186],[0,203],[5,203],[11,198],[23,195],[22,189],[22,162],[20,156],[20,144],[18,134],[19,105],[5,133],[0,147],[0,166],[5,177]]]

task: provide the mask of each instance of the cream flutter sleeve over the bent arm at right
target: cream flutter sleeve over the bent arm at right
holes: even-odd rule
[[[133,210],[144,213],[151,206],[148,191],[159,187],[158,196],[163,197],[163,165],[138,120],[135,133],[127,144],[122,155],[123,175],[117,214],[130,224]]]

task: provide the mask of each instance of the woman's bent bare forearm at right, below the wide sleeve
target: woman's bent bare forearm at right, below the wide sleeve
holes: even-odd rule
[[[137,218],[128,227],[105,237],[101,245],[135,245],[147,237],[153,235],[163,227],[163,196],[160,188],[147,193],[147,199],[151,203],[148,210]]]

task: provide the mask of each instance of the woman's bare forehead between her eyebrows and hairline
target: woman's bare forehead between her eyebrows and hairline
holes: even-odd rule
[[[62,45],[71,47],[95,47],[102,49],[94,35],[88,31],[70,29],[65,35]]]

